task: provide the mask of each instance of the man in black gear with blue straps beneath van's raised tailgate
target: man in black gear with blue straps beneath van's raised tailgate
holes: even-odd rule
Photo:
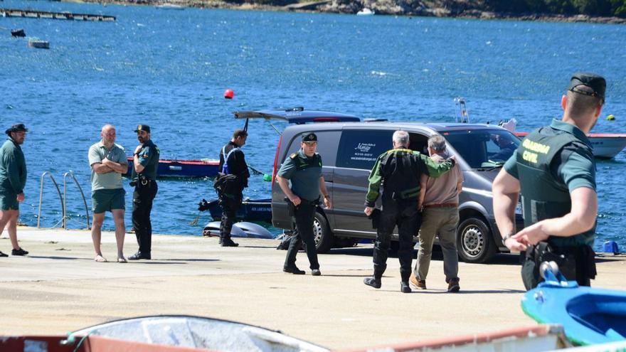
[[[219,171],[225,175],[233,175],[233,184],[220,193],[220,205],[222,206],[222,221],[220,223],[220,244],[222,247],[237,247],[239,243],[230,239],[230,230],[233,229],[233,222],[237,215],[237,210],[241,206],[243,200],[243,188],[248,187],[248,164],[245,164],[245,155],[241,147],[248,139],[248,132],[243,129],[237,129],[230,139],[220,151],[220,168]]]

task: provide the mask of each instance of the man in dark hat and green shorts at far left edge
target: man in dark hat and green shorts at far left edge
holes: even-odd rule
[[[0,148],[0,233],[9,224],[11,255],[27,255],[17,242],[19,203],[24,201],[26,186],[26,160],[21,149],[28,129],[24,124],[14,124],[5,131],[9,136]],[[0,257],[8,255],[0,252]]]

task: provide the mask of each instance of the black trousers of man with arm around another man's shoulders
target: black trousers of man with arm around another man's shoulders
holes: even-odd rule
[[[413,260],[413,236],[418,234],[421,222],[422,217],[418,212],[417,199],[394,201],[383,198],[381,219],[376,232],[376,242],[374,242],[374,277],[380,279],[387,269],[391,235],[393,229],[398,226],[400,277],[402,281],[408,281],[411,273],[411,261]]]

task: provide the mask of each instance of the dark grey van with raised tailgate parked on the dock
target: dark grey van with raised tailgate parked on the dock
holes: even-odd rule
[[[299,149],[301,134],[317,134],[317,151],[322,156],[322,172],[333,203],[332,209],[318,208],[315,215],[314,233],[319,252],[351,245],[363,238],[376,238],[376,230],[363,212],[367,178],[378,155],[392,148],[391,136],[398,129],[409,133],[410,149],[428,155],[428,138],[441,134],[446,139],[448,151],[456,155],[457,164],[465,177],[457,228],[457,248],[461,259],[465,262],[485,262],[495,253],[507,251],[492,208],[492,182],[514,151],[510,149],[511,142],[515,148],[519,145],[519,138],[506,129],[489,124],[360,122],[359,117],[348,114],[302,108],[235,112],[235,117],[290,122],[277,145],[272,174],[272,225],[276,228],[293,228],[285,194],[275,182],[276,172],[287,156]],[[502,148],[504,144],[508,144],[509,149]],[[377,206],[380,208],[380,200]],[[516,225],[518,229],[524,227],[519,207],[516,210]],[[398,240],[397,233],[393,235],[393,240]]]

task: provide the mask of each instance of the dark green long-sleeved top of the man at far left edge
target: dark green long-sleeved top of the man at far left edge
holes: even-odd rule
[[[11,137],[0,148],[0,192],[17,196],[26,186],[26,160],[21,147]]]

